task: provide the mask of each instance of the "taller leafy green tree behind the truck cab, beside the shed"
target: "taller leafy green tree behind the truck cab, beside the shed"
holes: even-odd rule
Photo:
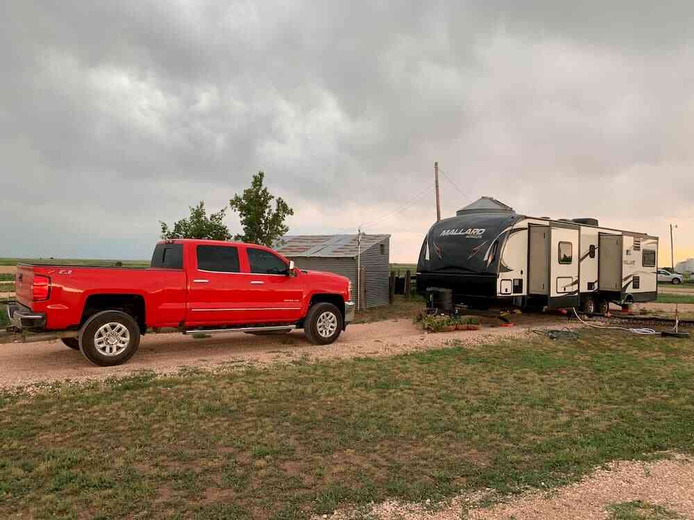
[[[263,186],[264,177],[262,171],[253,175],[251,187],[244,190],[242,196],[237,193],[229,201],[231,209],[239,214],[244,229],[244,234],[236,235],[235,240],[271,246],[289,231],[285,218],[294,215],[294,209],[281,197],[272,208],[271,202],[275,197]]]

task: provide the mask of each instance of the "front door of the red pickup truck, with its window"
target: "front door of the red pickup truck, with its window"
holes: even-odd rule
[[[251,272],[251,306],[264,322],[296,322],[301,319],[304,297],[301,273],[291,273],[289,265],[273,252],[246,247]]]

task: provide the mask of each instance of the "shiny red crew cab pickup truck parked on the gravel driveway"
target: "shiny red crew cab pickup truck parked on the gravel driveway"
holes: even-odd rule
[[[262,245],[162,241],[145,269],[20,264],[12,331],[53,336],[96,365],[119,365],[147,331],[283,333],[335,341],[353,320],[350,281],[303,271]],[[40,334],[37,334],[40,333]]]

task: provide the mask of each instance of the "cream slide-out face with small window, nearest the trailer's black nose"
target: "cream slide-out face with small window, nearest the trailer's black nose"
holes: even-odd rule
[[[550,229],[550,294],[548,307],[560,309],[578,306],[579,295],[579,229]]]

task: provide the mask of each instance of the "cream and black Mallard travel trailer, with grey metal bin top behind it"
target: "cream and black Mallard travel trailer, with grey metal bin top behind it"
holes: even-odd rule
[[[600,227],[594,218],[534,218],[491,197],[432,225],[417,288],[456,304],[604,312],[657,297],[658,237]]]

